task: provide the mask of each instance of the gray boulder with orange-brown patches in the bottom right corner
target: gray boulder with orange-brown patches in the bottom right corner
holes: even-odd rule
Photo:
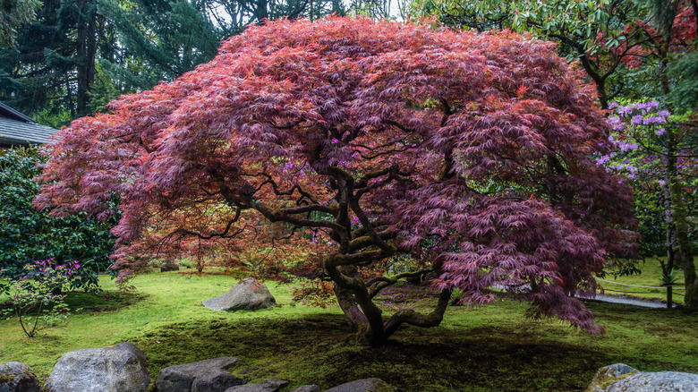
[[[637,371],[623,363],[596,372],[587,392],[696,392],[698,374]]]

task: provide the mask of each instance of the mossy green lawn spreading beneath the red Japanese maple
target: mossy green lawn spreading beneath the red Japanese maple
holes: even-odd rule
[[[24,337],[17,320],[0,320],[0,362],[23,362],[47,377],[61,354],[130,341],[148,356],[153,378],[166,366],[236,356],[235,372],[251,381],[276,377],[291,380],[291,387],[329,388],[379,377],[401,391],[583,390],[599,367],[615,362],[642,371],[698,372],[695,313],[592,302],[606,327],[604,336],[592,337],[555,320],[524,320],[525,304],[500,300],[452,307],[440,327],[403,328],[389,345],[370,348],[353,343],[336,307],[290,306],[286,285],[268,284],[281,306],[264,311],[214,312],[201,305],[235,282],[224,275],[153,273],[133,281],[135,294],[123,294],[107,278],[103,294],[71,294],[72,307],[83,310],[40,337]],[[391,302],[386,313],[431,299],[428,289],[407,286],[383,297]]]

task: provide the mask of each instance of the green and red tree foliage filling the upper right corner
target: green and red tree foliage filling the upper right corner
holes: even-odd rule
[[[456,28],[527,31],[558,42],[560,54],[578,60],[594,82],[602,107],[614,98],[659,97],[672,84],[677,98],[693,109],[698,104],[691,92],[695,77],[685,65],[691,64],[698,45],[694,4],[694,0],[418,0],[413,12],[437,16]],[[668,79],[670,65],[675,74]]]

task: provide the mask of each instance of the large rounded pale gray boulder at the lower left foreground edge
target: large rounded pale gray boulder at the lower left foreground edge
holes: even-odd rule
[[[132,343],[75,350],[55,363],[47,392],[146,392],[148,359]]]

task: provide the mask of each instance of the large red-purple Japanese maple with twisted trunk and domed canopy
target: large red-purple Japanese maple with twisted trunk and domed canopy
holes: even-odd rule
[[[573,294],[592,297],[606,255],[635,245],[621,229],[634,224],[626,180],[592,158],[612,148],[594,98],[552,44],[514,33],[270,22],[73,122],[37,203],[106,217],[120,195],[124,277],[186,239],[294,239],[307,258],[291,271],[331,280],[371,345],[405,323],[438,325],[455,287],[465,303],[503,291],[533,317],[598,333]],[[423,269],[371,272],[398,255]],[[440,293],[430,313],[373,303],[426,272]]]

